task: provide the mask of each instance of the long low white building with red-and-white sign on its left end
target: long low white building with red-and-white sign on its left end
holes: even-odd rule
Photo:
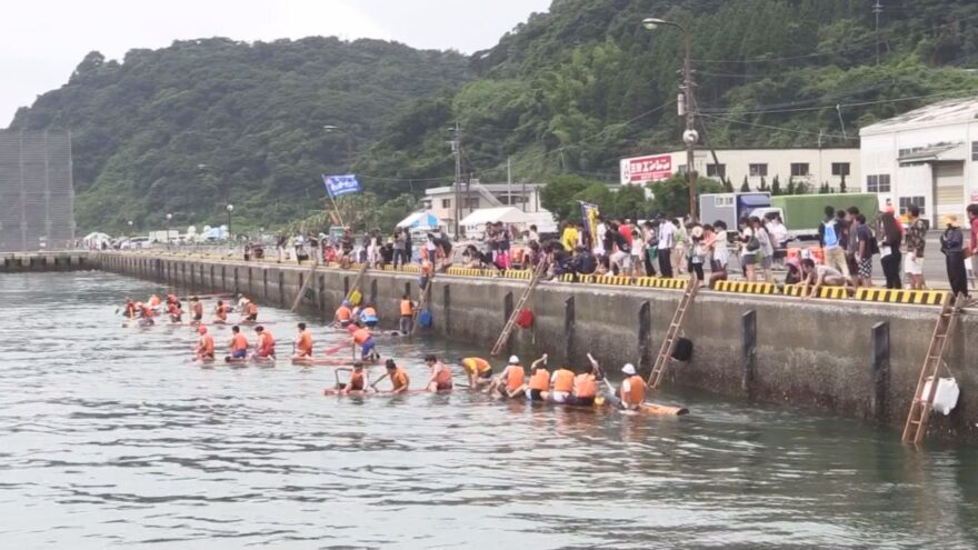
[[[847,190],[859,187],[859,149],[697,149],[693,170],[701,177],[729,178],[739,190],[747,178],[751,189],[760,187],[761,178],[770,187],[775,177],[785,189],[788,180],[804,182],[812,191],[822,183],[839,190],[845,178]],[[686,173],[686,150],[621,159],[621,184],[635,186],[669,179]]]

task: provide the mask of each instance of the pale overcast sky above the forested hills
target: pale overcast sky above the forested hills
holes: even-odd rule
[[[546,11],[550,0],[0,0],[0,128],[63,84],[86,53],[229,37],[380,38],[466,53]]]

